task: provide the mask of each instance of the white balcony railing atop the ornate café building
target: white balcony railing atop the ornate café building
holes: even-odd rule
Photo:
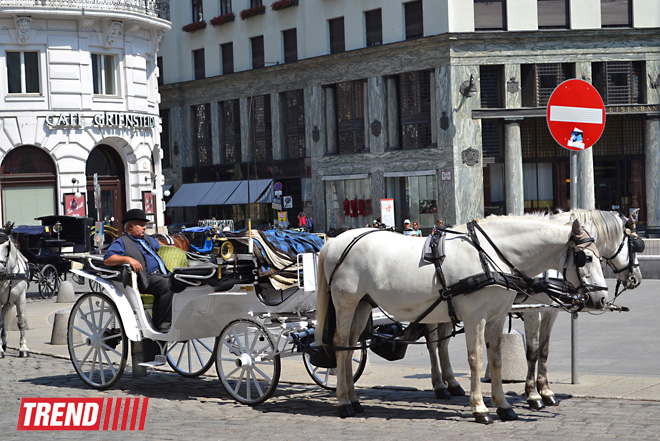
[[[7,6],[124,11],[170,19],[170,0],[0,0],[0,7]]]

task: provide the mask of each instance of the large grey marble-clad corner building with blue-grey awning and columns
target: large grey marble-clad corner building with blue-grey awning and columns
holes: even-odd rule
[[[410,218],[423,229],[437,217],[569,209],[572,197],[583,208],[641,208],[642,228],[660,227],[657,1],[176,8],[158,59],[175,221],[240,220],[248,209],[277,219],[268,187],[279,182],[289,221],[305,211],[317,231],[370,223],[382,199],[393,200],[397,226]],[[593,84],[606,108],[601,139],[573,155],[574,196],[571,152],[545,118],[570,78]],[[249,199],[246,179],[263,184]]]

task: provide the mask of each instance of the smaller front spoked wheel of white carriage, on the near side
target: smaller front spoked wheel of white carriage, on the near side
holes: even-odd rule
[[[247,319],[234,320],[222,330],[215,368],[227,393],[250,406],[270,398],[280,380],[280,356],[270,334]]]

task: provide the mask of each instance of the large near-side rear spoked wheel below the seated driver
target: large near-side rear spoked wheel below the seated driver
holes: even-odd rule
[[[112,387],[128,358],[128,339],[115,304],[90,292],[75,303],[67,331],[69,355],[76,373],[95,389]]]

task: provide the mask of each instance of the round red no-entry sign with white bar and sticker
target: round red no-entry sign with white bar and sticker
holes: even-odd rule
[[[546,112],[548,129],[562,147],[588,149],[605,129],[605,105],[594,86],[568,80],[552,92]]]

